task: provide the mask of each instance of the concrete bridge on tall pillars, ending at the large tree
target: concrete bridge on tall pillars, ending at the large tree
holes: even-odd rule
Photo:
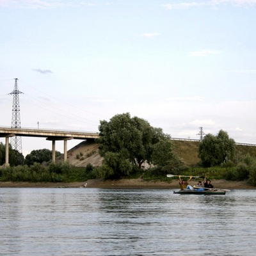
[[[64,141],[64,161],[67,161],[67,141],[68,140],[94,140],[99,138],[97,132],[71,132],[60,130],[46,130],[46,129],[22,129],[22,128],[8,128],[0,127],[0,137],[5,137],[5,165],[9,165],[9,138],[13,136],[26,137],[42,137],[46,140],[52,141],[52,163],[55,163],[55,141]]]

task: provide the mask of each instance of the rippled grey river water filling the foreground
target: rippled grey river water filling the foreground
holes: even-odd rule
[[[0,188],[0,255],[256,255],[256,190]]]

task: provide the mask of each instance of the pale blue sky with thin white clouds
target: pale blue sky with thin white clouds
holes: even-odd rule
[[[22,128],[98,132],[130,113],[256,144],[255,24],[256,0],[0,0],[0,126],[18,78]],[[22,138],[24,156],[41,148]]]

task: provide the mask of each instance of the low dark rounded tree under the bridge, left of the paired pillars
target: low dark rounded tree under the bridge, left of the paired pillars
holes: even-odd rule
[[[56,157],[60,156],[61,153],[59,151],[56,151]],[[31,166],[33,163],[44,163],[49,162],[52,159],[52,150],[49,150],[47,148],[44,149],[38,149],[31,151],[30,154],[28,154],[25,158],[25,164],[28,164],[28,166]]]

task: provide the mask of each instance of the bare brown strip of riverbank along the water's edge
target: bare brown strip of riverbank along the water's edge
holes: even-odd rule
[[[125,189],[179,189],[178,180],[172,182],[161,181],[145,181],[143,179],[120,179],[120,180],[101,180],[93,179],[84,182],[0,182],[0,188],[79,188],[83,184],[87,184],[86,188],[125,188]],[[194,184],[195,183],[195,184]],[[230,181],[230,180],[212,180],[211,182],[216,188],[223,189],[256,189],[256,186],[248,184],[246,181]],[[191,186],[196,182],[190,182]]]

